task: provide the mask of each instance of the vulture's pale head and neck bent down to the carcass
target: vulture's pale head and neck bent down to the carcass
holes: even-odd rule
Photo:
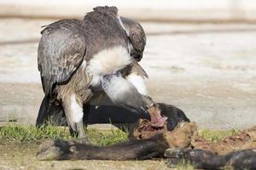
[[[150,119],[146,111],[150,105],[148,100],[119,72],[101,77],[101,83],[103,90],[114,105],[122,106],[129,111],[136,112],[142,118]]]

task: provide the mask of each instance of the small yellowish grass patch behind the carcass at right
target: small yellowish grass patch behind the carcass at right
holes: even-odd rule
[[[199,132],[199,135],[207,140],[218,141],[228,136],[236,134],[236,130],[210,130],[204,129]]]

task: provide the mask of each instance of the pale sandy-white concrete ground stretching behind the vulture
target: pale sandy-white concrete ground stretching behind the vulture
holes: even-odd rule
[[[40,26],[53,20],[0,19],[0,121],[35,123],[43,90]],[[255,125],[256,25],[142,23],[141,64],[155,101],[177,105],[200,127]]]

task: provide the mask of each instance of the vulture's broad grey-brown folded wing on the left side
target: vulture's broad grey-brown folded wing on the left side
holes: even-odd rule
[[[59,20],[42,32],[38,46],[38,70],[44,94],[56,83],[67,83],[84,60],[85,41],[80,20]]]

